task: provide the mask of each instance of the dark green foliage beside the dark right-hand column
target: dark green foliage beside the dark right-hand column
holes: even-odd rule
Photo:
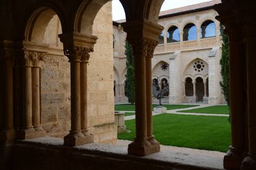
[[[229,106],[229,48],[228,48],[228,35],[224,32],[224,27],[221,26],[222,43],[222,56],[220,60],[222,81],[220,82],[222,93]]]

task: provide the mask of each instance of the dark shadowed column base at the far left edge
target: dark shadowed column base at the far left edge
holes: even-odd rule
[[[2,130],[0,132],[0,145],[11,145],[14,142],[15,134],[14,129]]]

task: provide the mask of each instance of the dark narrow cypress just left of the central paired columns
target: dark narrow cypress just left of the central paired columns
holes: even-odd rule
[[[128,102],[131,104],[135,103],[135,68],[134,68],[134,55],[132,53],[132,46],[126,41],[126,96]]]

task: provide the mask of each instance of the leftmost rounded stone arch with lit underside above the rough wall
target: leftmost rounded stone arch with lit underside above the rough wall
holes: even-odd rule
[[[25,41],[44,41],[46,28],[54,16],[58,17],[58,20],[61,23],[62,32],[62,25],[64,25],[64,23],[61,21],[58,13],[51,8],[40,7],[33,12],[27,22],[25,28]]]

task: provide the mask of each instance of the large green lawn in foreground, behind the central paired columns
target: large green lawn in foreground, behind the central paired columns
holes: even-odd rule
[[[133,140],[135,120],[126,121],[130,133],[119,139]],[[153,132],[162,145],[228,151],[231,143],[228,117],[160,114],[153,116]]]

